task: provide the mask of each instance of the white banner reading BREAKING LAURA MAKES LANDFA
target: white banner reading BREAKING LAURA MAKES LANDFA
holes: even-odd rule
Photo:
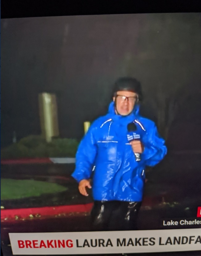
[[[201,250],[201,228],[9,233],[13,254],[114,254]]]

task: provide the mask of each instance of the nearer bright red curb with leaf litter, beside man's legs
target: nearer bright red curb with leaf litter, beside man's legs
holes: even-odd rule
[[[46,206],[36,208],[5,209],[1,210],[1,219],[13,219],[16,215],[19,218],[27,218],[29,215],[52,216],[71,212],[90,212],[92,206],[93,203],[63,206]]]

